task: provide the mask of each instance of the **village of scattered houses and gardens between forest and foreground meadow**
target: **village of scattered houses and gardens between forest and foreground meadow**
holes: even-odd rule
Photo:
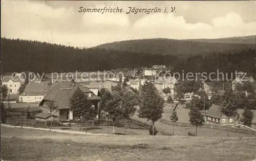
[[[222,85],[219,87],[219,89],[217,89],[218,87],[216,88],[216,86],[210,86],[211,84],[209,82],[199,80],[192,82],[199,82],[201,87],[191,89],[190,92],[187,92],[188,90],[185,90],[186,92],[179,91],[177,88],[179,88],[178,84],[180,83],[178,83],[176,78],[174,76],[166,77],[163,75],[170,72],[170,70],[171,68],[166,67],[165,65],[153,65],[152,68],[143,68],[142,72],[140,72],[142,73],[141,75],[134,75],[132,73],[133,70],[129,71],[124,69],[121,70],[124,73],[122,73],[123,75],[120,75],[120,78],[112,77],[108,79],[105,79],[104,73],[98,77],[89,79],[81,79],[81,77],[80,79],[72,78],[71,76],[68,77],[66,75],[58,78],[52,78],[53,75],[45,74],[44,79],[42,80],[39,80],[39,77],[33,79],[29,77],[30,80],[19,79],[22,78],[20,77],[22,74],[16,74],[14,76],[3,75],[1,78],[1,100],[4,104],[6,112],[4,122],[19,126],[40,126],[45,128],[54,128],[56,126],[59,128],[59,126],[72,125],[74,127],[80,127],[77,128],[79,131],[81,130],[81,126],[91,126],[93,128],[93,126],[106,125],[111,127],[114,125],[114,121],[116,121],[116,125],[120,124],[118,126],[120,126],[120,129],[123,128],[121,131],[125,130],[125,134],[127,131],[127,125],[129,125],[130,129],[152,129],[152,123],[147,122],[137,116],[140,106],[139,104],[134,104],[134,106],[136,106],[136,110],[131,111],[127,117],[123,117],[122,114],[120,114],[119,116],[115,116],[116,120],[114,121],[112,120],[113,116],[106,116],[106,113],[104,113],[106,107],[103,107],[105,103],[104,99],[106,99],[105,91],[108,91],[108,94],[114,93],[115,88],[120,83],[125,83],[137,94],[140,93],[143,83],[152,82],[157,90],[157,94],[165,102],[163,108],[163,117],[158,118],[158,120],[160,119],[160,122],[164,122],[166,125],[173,124],[176,126],[181,126],[180,124],[182,124],[182,126],[187,127],[197,125],[193,123],[191,124],[188,118],[190,106],[192,103],[194,103],[192,106],[198,106],[197,108],[200,109],[201,114],[204,117],[204,123],[199,123],[199,127],[204,126],[211,129],[214,128],[226,130],[227,127],[230,126],[231,131],[233,130],[234,132],[256,135],[256,130],[253,129],[256,127],[255,119],[250,118],[249,123],[244,123],[243,121],[243,116],[245,116],[244,109],[246,106],[238,107],[236,112],[230,117],[225,116],[225,114],[221,111],[222,104],[218,104],[218,99],[220,99],[218,97],[223,97],[223,95],[225,95],[225,93],[230,89],[225,88],[225,91],[221,89]],[[120,72],[120,70],[112,70],[109,72],[113,72],[113,75],[117,76],[118,71]],[[29,72],[23,73],[29,76]],[[156,75],[159,73],[162,73],[162,75],[160,77],[156,77]],[[250,97],[250,95],[254,92],[253,84],[255,83],[255,80],[252,77],[244,77],[243,75],[244,74],[240,72],[240,75],[230,82],[231,86],[229,86],[231,87],[232,93],[242,93],[245,94],[245,97],[248,97],[248,95]],[[26,75],[24,75],[24,77],[26,77]],[[249,86],[248,84],[251,84],[251,89],[245,89],[245,84],[247,84],[247,86]],[[183,84],[183,86],[185,87],[186,85]],[[6,94],[3,94],[3,88],[6,88]],[[86,122],[86,120],[82,119],[83,116],[77,114],[77,111],[73,112],[71,109],[70,99],[76,92],[77,88],[79,88],[84,96],[86,96],[92,105],[91,107],[96,113],[94,117],[87,119],[87,121],[90,122],[89,124]],[[180,95],[181,92],[183,94]],[[201,98],[202,96],[203,98]],[[49,102],[52,102],[56,108],[51,109],[51,107],[49,107]],[[168,111],[168,113],[166,111]],[[179,119],[172,122],[169,117],[171,117],[172,113],[174,114],[174,112]],[[78,116],[80,116],[80,118]],[[32,121],[33,123],[29,125],[28,120],[29,122]],[[101,123],[95,124],[95,121],[97,122],[97,120],[98,122],[100,120]],[[105,122],[108,123],[106,124]],[[162,128],[163,127],[161,127],[161,125],[157,126],[157,129]],[[162,133],[166,133],[166,131],[172,133],[172,126],[169,128],[170,129],[168,130],[162,130]],[[104,133],[111,134],[112,131],[110,132],[109,129],[107,130],[109,132],[104,131]],[[146,132],[142,133],[145,134]],[[196,133],[194,131],[188,131],[188,134],[189,133],[196,135],[197,131]],[[115,134],[114,130],[113,134]],[[186,135],[184,132],[182,134]]]

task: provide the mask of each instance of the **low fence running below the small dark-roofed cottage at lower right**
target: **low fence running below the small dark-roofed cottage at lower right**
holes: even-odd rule
[[[164,124],[169,124],[169,125],[175,125],[175,126],[181,126],[181,127],[195,127],[194,125],[188,124],[188,123],[173,123],[167,120],[163,120],[160,119],[161,123]],[[243,125],[240,125],[240,127]],[[203,126],[201,126],[201,128],[208,128],[208,129],[217,129],[217,130],[224,130],[227,131],[227,126],[222,126],[222,125],[215,125],[215,124],[205,124]],[[256,135],[256,131],[253,130],[247,130],[247,129],[241,129],[241,128],[234,128],[234,127],[229,127],[229,131],[231,132],[238,132],[238,133],[246,133],[246,134],[252,134],[252,135]]]

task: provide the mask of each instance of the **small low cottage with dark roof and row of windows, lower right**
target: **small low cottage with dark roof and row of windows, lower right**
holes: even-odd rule
[[[221,112],[221,106],[212,104],[208,111],[205,113],[205,121],[219,125],[228,125],[228,121],[229,124],[234,123],[234,118],[230,118],[228,120],[228,117]]]

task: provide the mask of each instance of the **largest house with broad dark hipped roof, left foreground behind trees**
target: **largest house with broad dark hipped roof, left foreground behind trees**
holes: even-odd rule
[[[93,104],[94,109],[100,113],[100,97],[96,96],[89,88],[83,87],[75,81],[61,81],[51,87],[44,99],[39,103],[39,107],[42,108],[42,113],[49,113],[48,102],[53,101],[58,107],[58,110],[53,111],[51,114],[58,116],[59,120],[76,120],[77,118],[73,116],[73,112],[70,110],[70,98],[77,88],[82,90],[83,94],[86,95],[88,100]]]

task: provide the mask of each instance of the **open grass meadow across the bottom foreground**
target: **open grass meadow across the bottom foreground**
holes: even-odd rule
[[[256,139],[74,135],[1,127],[4,160],[253,160]]]

